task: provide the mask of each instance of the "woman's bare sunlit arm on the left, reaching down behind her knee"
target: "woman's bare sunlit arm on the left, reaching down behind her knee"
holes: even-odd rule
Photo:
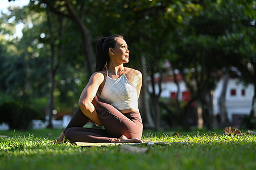
[[[90,76],[89,82],[82,91],[79,99],[79,107],[85,116],[93,120],[98,125],[102,125],[100,119],[97,116],[92,100],[96,96],[100,84],[104,81],[104,75],[96,72]]]

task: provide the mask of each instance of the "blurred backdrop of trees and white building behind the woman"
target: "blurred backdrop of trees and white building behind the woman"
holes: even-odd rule
[[[256,1],[1,0],[0,129],[64,128],[122,34],[144,129],[256,129]]]

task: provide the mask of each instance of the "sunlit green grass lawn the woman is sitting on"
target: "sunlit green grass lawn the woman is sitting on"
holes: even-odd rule
[[[0,131],[0,169],[256,169],[256,135],[226,136],[205,131],[144,132],[173,143],[152,145],[143,154],[122,152],[121,146],[77,147],[65,142],[49,145],[61,130]]]

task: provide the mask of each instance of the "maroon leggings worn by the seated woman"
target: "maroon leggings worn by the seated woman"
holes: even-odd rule
[[[92,104],[105,129],[82,128],[89,118],[79,108],[63,131],[66,139],[71,142],[111,142],[122,135],[141,139],[143,127],[139,112],[123,114],[97,95]]]

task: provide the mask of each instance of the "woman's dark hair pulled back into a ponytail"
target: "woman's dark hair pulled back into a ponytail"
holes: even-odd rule
[[[96,71],[103,71],[108,69],[107,62],[109,62],[109,48],[115,48],[117,45],[117,38],[122,38],[122,35],[112,35],[109,37],[99,37],[96,49]]]

